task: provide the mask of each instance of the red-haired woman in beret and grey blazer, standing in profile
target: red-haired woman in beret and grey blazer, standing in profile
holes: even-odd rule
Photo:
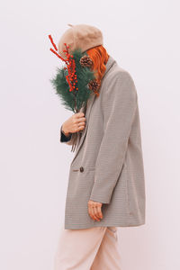
[[[93,60],[101,84],[86,107],[60,128],[60,141],[76,145],[71,162],[56,270],[121,269],[118,227],[145,224],[145,181],[138,96],[128,71],[103,47],[103,34],[69,24],[58,43],[80,47]]]

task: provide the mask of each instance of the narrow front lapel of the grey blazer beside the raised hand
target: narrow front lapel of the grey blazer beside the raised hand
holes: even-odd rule
[[[83,107],[80,112],[85,112],[85,129],[82,130],[81,132],[77,132],[77,148],[76,148],[76,152],[75,152],[75,156],[71,162],[71,164],[73,163],[73,161],[75,160],[76,158],[76,155],[79,151],[79,149],[81,148],[82,144],[83,144],[83,141],[85,139],[85,134],[86,134],[86,131],[87,131],[87,127],[88,127],[88,119],[89,119],[89,115],[90,115],[90,112],[91,112],[91,109],[92,109],[92,106],[93,106],[93,103],[94,103],[94,99],[95,99],[95,94],[92,93],[91,96],[89,97],[89,99],[87,100],[87,104],[86,104],[86,112],[85,112],[85,107]],[[81,133],[81,134],[80,134]]]

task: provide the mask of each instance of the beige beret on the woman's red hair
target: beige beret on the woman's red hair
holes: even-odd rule
[[[69,50],[77,48],[82,49],[84,52],[87,49],[92,49],[95,46],[103,45],[103,33],[98,28],[88,24],[70,24],[67,31],[61,36],[58,41],[58,53],[61,57],[66,58],[64,43],[67,43]]]

